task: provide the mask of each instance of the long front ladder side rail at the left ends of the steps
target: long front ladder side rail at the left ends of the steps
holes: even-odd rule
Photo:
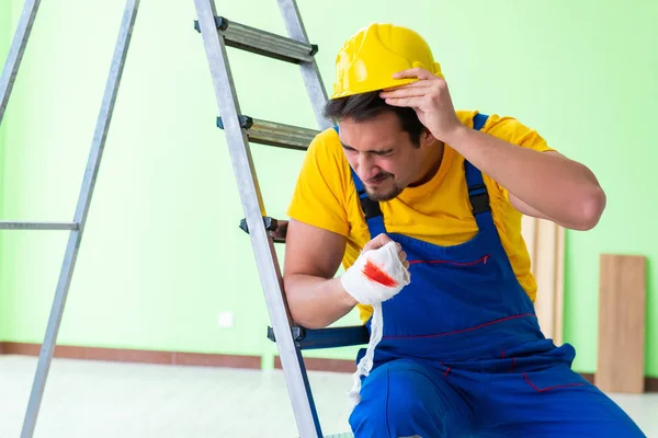
[[[279,339],[276,347],[293,413],[302,438],[318,438],[322,436],[320,424],[304,359],[293,339],[292,319],[283,296],[283,281],[274,244],[269,239],[263,224],[262,195],[247,135],[240,126],[239,102],[228,64],[226,44],[219,36],[215,23],[217,16],[215,3],[213,0],[194,0],[194,3],[268,311]]]

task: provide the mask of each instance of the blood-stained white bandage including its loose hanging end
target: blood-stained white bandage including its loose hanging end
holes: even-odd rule
[[[373,367],[375,347],[382,341],[384,318],[382,302],[396,296],[411,281],[409,270],[398,257],[395,242],[388,242],[377,250],[366,251],[348,268],[341,277],[343,288],[356,301],[373,307],[371,338],[365,356],[359,361],[352,374],[353,385],[349,397],[354,407],[361,402],[361,376],[367,376]]]

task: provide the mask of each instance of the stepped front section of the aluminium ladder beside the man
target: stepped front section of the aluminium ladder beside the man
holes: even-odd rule
[[[327,93],[295,0],[277,0],[290,37],[250,27],[218,16],[214,0],[194,0],[195,28],[203,36],[206,58],[220,116],[217,126],[225,130],[234,173],[246,218],[240,228],[251,238],[261,285],[273,327],[268,336],[276,342],[279,356],[302,438],[322,437],[313,400],[302,349],[367,344],[365,326],[306,330],[296,326],[283,293],[283,280],[274,243],[285,242],[287,223],[264,216],[265,207],[258,184],[249,142],[306,150],[317,130],[254,119],[240,112],[226,47],[299,65],[310,103],[320,129],[332,125],[322,115]],[[342,435],[348,437],[351,435]]]

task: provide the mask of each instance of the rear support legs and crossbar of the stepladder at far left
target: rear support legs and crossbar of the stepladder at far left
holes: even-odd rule
[[[2,70],[2,76],[0,76],[0,123],[2,123],[2,118],[4,116],[9,96],[13,89],[13,84],[23,59],[23,54],[25,53],[25,46],[27,45],[27,39],[30,38],[39,3],[41,0],[25,0],[21,16],[19,19],[16,31],[7,57],[7,62]],[[107,136],[107,130],[112,120],[112,114],[114,112],[114,103],[116,101],[116,94],[118,92],[118,85],[123,74],[133,27],[137,16],[138,4],[139,0],[126,0],[73,220],[71,222],[0,221],[0,229],[4,230],[69,231],[66,252],[53,300],[53,307],[50,309],[50,315],[46,326],[46,334],[39,350],[34,382],[32,384],[30,401],[27,402],[27,410],[23,420],[21,438],[32,438],[36,427],[36,419],[44,395],[48,371],[50,370],[50,362],[55,353],[57,334],[59,332],[61,315],[66,306],[66,299],[73,275],[76,260],[78,258],[78,250],[82,240],[82,232],[84,231],[84,223],[87,221],[87,215],[89,212],[89,206],[91,204],[97,175],[101,164],[101,157],[105,147],[105,138]]]

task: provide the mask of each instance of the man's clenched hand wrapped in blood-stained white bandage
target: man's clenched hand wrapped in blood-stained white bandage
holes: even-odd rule
[[[387,243],[381,245],[384,241]],[[396,242],[379,234],[368,245],[376,249],[368,250],[366,245],[341,277],[343,289],[362,304],[386,301],[411,280],[406,254]]]

